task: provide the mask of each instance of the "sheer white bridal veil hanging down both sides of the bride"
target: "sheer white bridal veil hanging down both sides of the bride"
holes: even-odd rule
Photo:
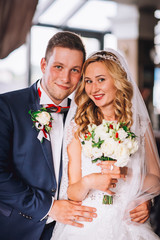
[[[132,98],[132,113],[133,113],[133,125],[131,131],[133,131],[139,142],[138,151],[131,156],[131,161],[128,164],[128,174],[126,177],[124,191],[125,196],[125,211],[124,220],[131,222],[129,211],[134,209],[142,202],[152,199],[160,194],[160,162],[158,151],[153,136],[151,121],[139,92],[136,83],[132,80],[126,61],[117,51],[113,49],[105,49],[107,52],[113,53],[119,59],[122,68],[126,71],[128,81],[133,85],[133,98]],[[64,149],[63,149],[63,175],[60,189],[60,199],[67,199],[67,187],[68,187],[68,155],[67,145],[70,143],[73,137],[73,129],[75,128],[74,116],[77,106],[74,102],[74,97],[71,103],[71,108],[66,119],[66,130],[64,134]],[[133,222],[132,222],[133,224]],[[55,227],[59,233],[63,229],[63,224],[58,223]],[[53,234],[53,239],[54,234]],[[118,239],[118,238],[117,238]]]

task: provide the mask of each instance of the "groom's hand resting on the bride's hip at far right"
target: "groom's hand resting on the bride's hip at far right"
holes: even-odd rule
[[[130,211],[130,217],[133,222],[144,223],[149,218],[151,201],[146,201]]]

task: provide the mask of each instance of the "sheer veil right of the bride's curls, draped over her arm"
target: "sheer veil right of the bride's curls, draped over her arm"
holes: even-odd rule
[[[127,213],[142,202],[160,194],[160,161],[147,108],[137,84],[131,77],[127,63],[117,51],[113,49],[106,49],[106,51],[117,56],[127,73],[128,81],[133,86],[131,131],[137,136],[139,150],[131,156],[128,165],[129,172],[126,181],[130,182],[130,190],[127,195]]]

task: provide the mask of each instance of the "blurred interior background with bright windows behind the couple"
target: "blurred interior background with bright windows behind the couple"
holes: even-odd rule
[[[87,55],[111,47],[126,57],[160,151],[160,1],[0,0],[0,93],[41,77],[47,42],[61,30],[80,34]],[[160,236],[159,198],[151,219]]]

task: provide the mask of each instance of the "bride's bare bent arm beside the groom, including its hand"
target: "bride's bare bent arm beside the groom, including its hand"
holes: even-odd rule
[[[113,194],[109,187],[114,187],[117,182],[109,174],[93,173],[82,177],[81,173],[81,143],[78,138],[73,138],[68,146],[68,198],[74,201],[82,201],[89,190],[99,189]],[[115,175],[115,178],[119,176]]]

